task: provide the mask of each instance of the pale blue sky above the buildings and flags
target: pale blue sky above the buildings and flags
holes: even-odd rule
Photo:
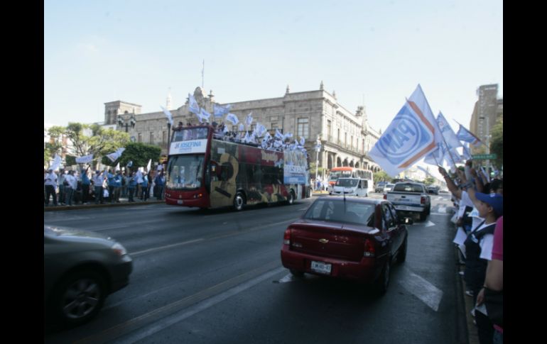
[[[384,131],[419,83],[469,126],[482,84],[503,96],[503,3],[44,1],[44,123],[104,121],[104,103],[173,108],[202,83],[220,103],[336,91]]]

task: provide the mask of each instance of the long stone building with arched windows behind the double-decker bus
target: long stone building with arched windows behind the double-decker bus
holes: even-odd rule
[[[201,87],[194,91],[198,104],[207,112],[213,113],[215,96],[205,94]],[[168,96],[168,108],[170,96]],[[318,138],[322,148],[319,152],[319,166],[332,167],[351,166],[377,172],[379,165],[369,157],[369,150],[379,139],[380,133],[374,131],[367,121],[364,106],[358,106],[352,112],[338,103],[336,94],[325,91],[323,82],[315,91],[291,92],[287,87],[283,96],[269,99],[239,101],[232,104],[230,109],[244,122],[247,114],[252,112],[253,122],[246,130],[253,130],[256,123],[266,126],[273,135],[276,129],[281,133],[293,133],[293,138],[305,138],[305,148],[310,155],[310,161],[315,162],[315,145]],[[111,101],[105,103],[104,121],[107,125],[116,125],[118,130],[128,131],[131,140],[158,145],[162,154],[167,153],[168,123],[163,111],[141,113],[141,106],[125,101]],[[190,122],[197,124],[197,116],[188,111],[188,99],[183,106],[170,111],[173,114],[173,125],[181,121],[186,125]],[[213,118],[210,121],[221,122]],[[134,124],[134,126],[133,126]],[[230,124],[231,126],[231,124]],[[230,127],[229,127],[230,128]],[[237,131],[237,126],[233,126]]]

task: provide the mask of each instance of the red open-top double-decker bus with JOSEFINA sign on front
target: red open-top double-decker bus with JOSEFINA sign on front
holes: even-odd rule
[[[227,140],[212,126],[173,133],[166,168],[166,204],[241,210],[246,204],[310,196],[305,152],[265,150]]]

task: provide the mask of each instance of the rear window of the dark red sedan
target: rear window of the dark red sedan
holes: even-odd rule
[[[374,227],[374,204],[355,202],[347,199],[318,199],[304,218],[308,220],[357,223],[359,225]]]

